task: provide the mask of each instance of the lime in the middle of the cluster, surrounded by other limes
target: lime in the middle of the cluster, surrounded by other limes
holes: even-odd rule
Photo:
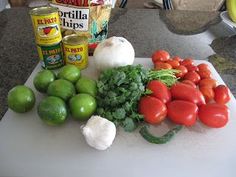
[[[56,96],[62,98],[64,101],[68,101],[72,96],[75,95],[74,85],[64,79],[58,79],[53,81],[47,90],[49,96]]]

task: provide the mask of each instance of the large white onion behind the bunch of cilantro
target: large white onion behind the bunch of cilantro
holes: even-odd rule
[[[110,37],[99,43],[94,51],[94,62],[98,71],[118,66],[132,65],[134,48],[123,37]]]

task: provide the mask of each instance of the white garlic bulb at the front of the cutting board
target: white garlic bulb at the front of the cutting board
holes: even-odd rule
[[[116,136],[116,126],[113,122],[100,116],[92,116],[82,128],[87,143],[98,150],[111,146]]]

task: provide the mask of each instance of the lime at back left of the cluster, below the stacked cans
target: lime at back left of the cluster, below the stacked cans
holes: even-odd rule
[[[34,77],[34,87],[42,93],[46,93],[48,86],[56,79],[55,74],[50,70],[42,70]]]

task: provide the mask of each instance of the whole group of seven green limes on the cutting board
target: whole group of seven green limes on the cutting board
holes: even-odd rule
[[[37,112],[48,125],[59,125],[66,121],[68,114],[76,120],[87,120],[95,112],[96,81],[82,76],[80,69],[66,65],[58,74],[42,70],[33,80],[37,91],[47,96],[40,101]],[[31,110],[35,105],[32,89],[18,85],[8,93],[8,107],[17,113]]]

